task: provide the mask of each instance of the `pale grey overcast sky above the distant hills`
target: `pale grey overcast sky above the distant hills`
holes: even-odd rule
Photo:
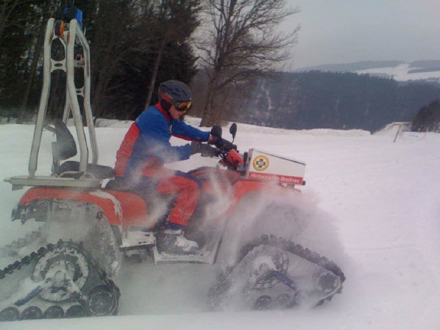
[[[440,59],[440,0],[287,0],[300,7],[293,68]]]

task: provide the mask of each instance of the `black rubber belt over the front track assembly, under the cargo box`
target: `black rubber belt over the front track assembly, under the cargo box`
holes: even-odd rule
[[[305,259],[310,263],[314,263],[315,265],[319,265],[320,267],[329,270],[330,272],[338,276],[341,281],[341,287],[336,293],[340,294],[340,292],[342,292],[342,283],[344,283],[345,281],[345,275],[340,269],[340,267],[338,267],[338,265],[336,265],[334,261],[330,261],[325,256],[321,256],[317,252],[311,251],[308,248],[303,248],[303,246],[299,244],[296,244],[292,241],[287,241],[283,238],[278,238],[274,235],[270,235],[270,236],[262,235],[259,239],[256,239],[251,243],[248,243],[247,245],[243,246],[243,248],[241,248],[237,262],[235,263],[235,265],[228,268],[228,273],[232,272],[232,270],[237,265],[239,265],[241,261],[243,261],[243,259],[245,258],[245,256],[248,255],[249,252],[251,252],[252,250],[254,250],[254,248],[257,248],[261,245],[272,246],[274,248],[278,248],[286,252],[295,254],[296,256],[299,256],[301,259]],[[333,295],[325,298],[324,300],[331,300],[332,297]],[[320,303],[318,303],[318,305],[323,303],[324,300],[321,300]]]

